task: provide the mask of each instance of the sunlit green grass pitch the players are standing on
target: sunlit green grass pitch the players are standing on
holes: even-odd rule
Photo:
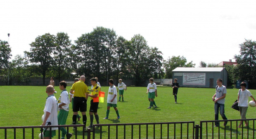
[[[36,86],[0,86],[0,127],[5,126],[30,126],[41,125],[41,116],[45,106],[47,94],[46,87]],[[69,90],[71,87],[67,87]],[[60,90],[55,87],[58,99]],[[102,87],[102,91],[107,92],[108,87]],[[116,119],[113,108],[110,109],[109,119],[104,120],[107,109],[107,93],[104,103],[99,104],[98,114],[100,123],[152,123],[152,122],[180,122],[214,120],[214,102],[211,97],[215,89],[208,88],[180,88],[178,91],[178,104],[174,103],[171,87],[158,87],[158,97],[155,102],[158,108],[147,109],[149,101],[147,99],[146,87],[128,87],[124,92],[124,102],[118,102],[117,108],[121,118]],[[250,90],[256,98],[256,90]],[[225,114],[228,119],[239,119],[239,112],[231,109],[231,105],[237,99],[238,89],[228,89],[225,100]],[[119,95],[118,95],[119,96]],[[251,98],[249,98],[249,101]],[[87,102],[88,109],[90,107]],[[81,114],[79,112],[79,114]],[[87,112],[87,126],[90,124],[90,116]],[[247,118],[255,118],[256,108],[249,107]],[[72,123],[72,107],[67,120],[67,125]],[[221,116],[219,119],[222,120]],[[78,124],[82,122],[78,122]],[[96,123],[96,121],[94,121]],[[19,131],[17,131],[19,132]],[[20,131],[22,137],[22,130]],[[29,130],[31,132],[31,130]],[[71,131],[72,132],[72,131]],[[0,130],[0,134],[4,131]],[[36,133],[35,133],[36,134]],[[39,131],[38,131],[39,134]],[[19,133],[17,133],[19,139]],[[36,135],[37,137],[37,135]],[[2,138],[2,137],[0,137]],[[31,138],[31,137],[30,137]],[[57,137],[55,137],[57,138]],[[128,137],[129,138],[129,137]]]

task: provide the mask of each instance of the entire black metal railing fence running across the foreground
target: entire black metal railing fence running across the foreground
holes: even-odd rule
[[[255,120],[245,119],[246,127],[237,128],[242,119],[188,122],[163,122],[163,123],[115,123],[95,124],[92,129],[84,130],[84,125],[50,125],[50,126],[19,126],[0,127],[1,138],[5,139],[37,139],[43,128],[66,127],[67,132],[73,131],[73,139],[254,139]],[[214,122],[227,125],[214,127]],[[220,124],[221,125],[221,124]],[[73,127],[75,127],[73,129]],[[3,131],[4,130],[4,131]],[[60,138],[60,130],[57,132]],[[55,137],[54,137],[55,138]]]

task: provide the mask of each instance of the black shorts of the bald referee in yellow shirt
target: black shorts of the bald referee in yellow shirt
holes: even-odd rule
[[[73,112],[86,112],[87,111],[87,104],[86,99],[84,97],[74,97],[73,100]]]

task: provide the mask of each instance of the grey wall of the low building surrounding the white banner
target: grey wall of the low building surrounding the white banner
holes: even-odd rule
[[[223,73],[224,71],[224,73]],[[200,88],[215,88],[216,87],[216,80],[218,78],[221,78],[223,80],[223,85],[227,86],[227,80],[228,80],[228,73],[227,70],[223,70],[221,72],[177,72],[173,71],[173,81],[174,79],[178,79],[178,83],[180,84],[180,87],[200,87]],[[183,85],[183,76],[174,76],[174,73],[205,73],[205,85]],[[213,79],[213,87],[210,87],[210,79]]]

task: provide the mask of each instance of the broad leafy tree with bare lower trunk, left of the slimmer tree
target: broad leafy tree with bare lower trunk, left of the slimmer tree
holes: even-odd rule
[[[46,85],[45,75],[52,66],[52,55],[56,47],[55,36],[50,33],[38,36],[30,46],[30,52],[25,51],[24,53],[31,63],[38,64],[40,73],[43,75],[43,84]]]

